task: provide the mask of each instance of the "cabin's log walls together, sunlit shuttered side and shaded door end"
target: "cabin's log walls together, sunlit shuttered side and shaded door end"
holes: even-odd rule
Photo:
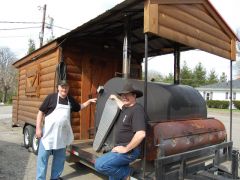
[[[62,52],[60,52],[62,51]],[[95,52],[76,47],[63,47],[44,54],[19,67],[19,86],[14,121],[35,125],[39,106],[50,93],[56,92],[56,67],[60,57],[67,65],[69,94],[79,103],[97,97],[97,88],[122,70],[122,54]],[[25,59],[24,59],[25,60]],[[141,65],[134,65],[133,77],[141,75]],[[95,104],[71,114],[75,140],[93,138]]]

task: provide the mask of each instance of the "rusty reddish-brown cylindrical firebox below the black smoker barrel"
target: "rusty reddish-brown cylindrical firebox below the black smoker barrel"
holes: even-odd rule
[[[178,154],[223,142],[227,135],[217,119],[192,119],[149,123],[146,159]]]

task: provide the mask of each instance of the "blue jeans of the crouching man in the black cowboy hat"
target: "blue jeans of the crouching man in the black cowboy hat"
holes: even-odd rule
[[[98,172],[109,176],[109,180],[123,180],[131,172],[129,163],[136,160],[139,155],[139,148],[124,154],[108,152],[96,159],[95,168]]]

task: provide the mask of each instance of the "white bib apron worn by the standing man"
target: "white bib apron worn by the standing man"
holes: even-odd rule
[[[74,137],[70,124],[70,103],[59,104],[52,113],[45,117],[42,143],[45,150],[61,149],[71,144]]]

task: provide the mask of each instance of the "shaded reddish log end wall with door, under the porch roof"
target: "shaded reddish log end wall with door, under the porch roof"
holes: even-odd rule
[[[65,48],[69,94],[79,103],[97,97],[97,88],[115,76],[121,69],[121,61],[111,56],[89,51]],[[95,105],[72,113],[72,128],[75,140],[93,138]]]

